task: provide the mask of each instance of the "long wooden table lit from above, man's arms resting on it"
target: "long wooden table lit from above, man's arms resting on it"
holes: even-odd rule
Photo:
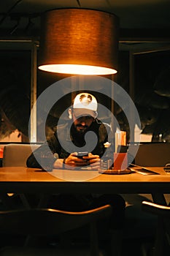
[[[1,167],[0,191],[18,193],[170,193],[170,173],[149,167],[158,174],[99,174],[97,170],[53,170]],[[59,178],[58,178],[59,177]]]

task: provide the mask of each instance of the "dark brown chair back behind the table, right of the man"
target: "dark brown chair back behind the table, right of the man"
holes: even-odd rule
[[[139,145],[135,164],[141,166],[165,166],[170,163],[170,143]]]

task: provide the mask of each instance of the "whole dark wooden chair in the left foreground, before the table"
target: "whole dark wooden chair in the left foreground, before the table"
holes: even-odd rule
[[[1,256],[15,255],[82,255],[99,256],[96,222],[112,214],[112,206],[105,205],[89,211],[70,212],[51,208],[32,208],[0,211],[0,233],[26,236],[24,246],[7,246],[0,250]],[[70,230],[90,225],[90,250],[72,248],[64,240],[63,247],[35,246],[35,238],[61,236]],[[72,237],[72,235],[70,236]],[[34,244],[34,246],[33,246]],[[72,252],[72,249],[74,252]],[[100,254],[101,255],[101,254]]]

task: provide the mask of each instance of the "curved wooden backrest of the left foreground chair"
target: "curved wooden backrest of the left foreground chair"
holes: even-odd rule
[[[0,233],[31,236],[57,235],[109,217],[109,205],[89,211],[61,211],[51,208],[0,211]]]

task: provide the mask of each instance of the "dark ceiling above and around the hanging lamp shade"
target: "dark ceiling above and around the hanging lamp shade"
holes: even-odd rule
[[[68,7],[115,13],[120,18],[120,37],[169,37],[169,0],[0,1],[1,37],[37,35],[42,12]]]

